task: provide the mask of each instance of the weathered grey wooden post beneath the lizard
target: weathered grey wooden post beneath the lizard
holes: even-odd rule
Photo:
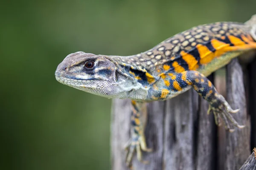
[[[256,67],[256,64],[254,65]],[[256,84],[255,78],[251,81]],[[249,69],[249,73],[253,68]],[[256,90],[250,95],[256,102]],[[253,98],[254,97],[254,98]],[[233,133],[217,127],[213,115],[207,115],[208,103],[194,90],[173,99],[148,104],[148,122],[145,129],[148,147],[142,164],[134,156],[135,170],[238,170],[250,155],[250,144],[256,144],[256,130],[250,131],[253,122],[247,114],[243,72],[238,59],[227,66],[227,101],[233,109],[240,108],[233,116],[239,124],[246,125]],[[255,109],[253,109],[255,108]],[[256,121],[256,103],[250,108]],[[113,100],[111,119],[112,170],[127,170],[124,144],[130,135],[131,102]],[[224,133],[223,133],[224,132]],[[250,143],[250,139],[251,142]],[[221,150],[220,148],[224,148]]]

